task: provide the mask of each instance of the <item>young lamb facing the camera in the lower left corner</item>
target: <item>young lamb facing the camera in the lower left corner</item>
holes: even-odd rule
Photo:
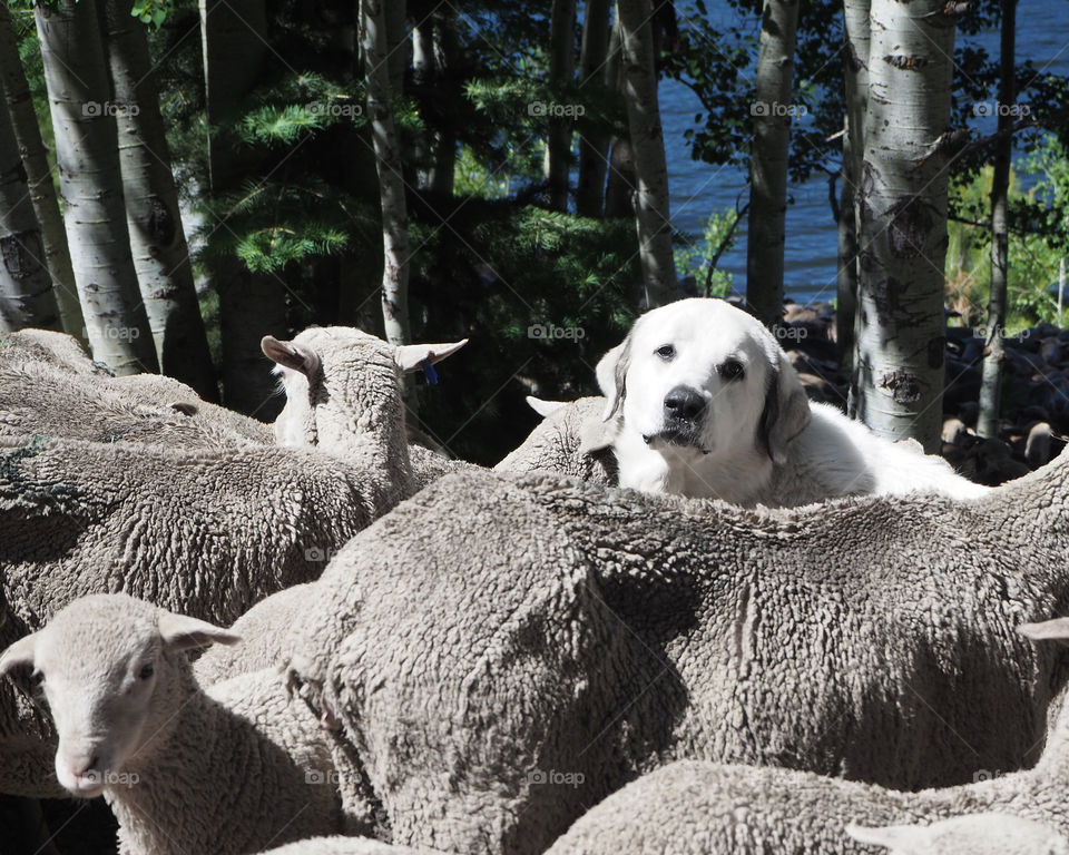
[[[0,657],[0,676],[33,669],[59,734],[57,778],[104,795],[127,855],[238,855],[346,826],[320,724],[277,671],[207,691],[194,680],[185,650],[238,640],[97,594]]]

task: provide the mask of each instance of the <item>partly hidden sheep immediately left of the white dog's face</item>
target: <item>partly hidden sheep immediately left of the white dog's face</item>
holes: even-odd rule
[[[543,421],[493,468],[496,472],[546,471],[599,484],[616,483],[611,440],[602,436],[604,397],[570,403],[529,397],[528,403]]]

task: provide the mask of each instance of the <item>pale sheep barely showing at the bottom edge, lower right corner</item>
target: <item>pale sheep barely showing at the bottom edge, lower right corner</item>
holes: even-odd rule
[[[1069,855],[1069,843],[1042,823],[1010,814],[971,814],[931,825],[847,825],[859,843],[891,855]]]

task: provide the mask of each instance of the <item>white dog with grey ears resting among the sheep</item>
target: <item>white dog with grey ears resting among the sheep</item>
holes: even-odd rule
[[[646,313],[597,375],[608,399],[601,444],[616,453],[621,487],[768,507],[989,489],[915,442],[890,442],[811,404],[772,333],[724,301]]]

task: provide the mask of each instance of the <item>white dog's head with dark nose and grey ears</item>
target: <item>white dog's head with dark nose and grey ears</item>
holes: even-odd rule
[[[598,363],[604,420],[651,449],[763,448],[776,463],[810,421],[797,373],[775,337],[719,299],[683,299],[643,315]]]

